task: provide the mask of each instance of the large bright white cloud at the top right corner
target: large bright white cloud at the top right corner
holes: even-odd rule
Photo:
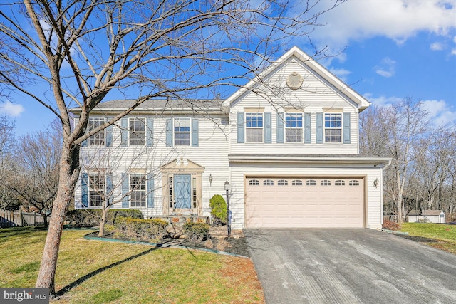
[[[346,1],[320,16],[318,21],[324,26],[318,26],[312,38],[318,46],[331,46],[331,51],[340,50],[349,41],[375,36],[400,44],[420,31],[446,36],[456,28],[455,16],[455,0]]]

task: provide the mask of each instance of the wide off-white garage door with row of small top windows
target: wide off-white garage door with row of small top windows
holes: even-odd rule
[[[246,179],[248,228],[362,228],[361,178]]]

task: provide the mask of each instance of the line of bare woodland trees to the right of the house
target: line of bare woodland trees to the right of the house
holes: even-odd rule
[[[456,126],[436,126],[412,98],[360,115],[361,154],[391,157],[383,175],[385,214],[439,209],[456,218]]]

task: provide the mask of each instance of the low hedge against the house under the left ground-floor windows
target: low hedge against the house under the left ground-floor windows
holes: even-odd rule
[[[66,220],[72,226],[92,227],[98,226],[103,211],[100,209],[77,209],[66,213]],[[119,217],[142,219],[142,212],[136,209],[109,209],[105,224],[113,224]]]

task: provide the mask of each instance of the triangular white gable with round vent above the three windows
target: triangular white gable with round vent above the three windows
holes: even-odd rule
[[[242,100],[259,105],[274,103],[279,108],[304,110],[318,103],[321,108],[368,108],[370,103],[299,48],[291,48],[276,63],[224,101],[230,108]],[[308,108],[309,110],[309,108]]]

